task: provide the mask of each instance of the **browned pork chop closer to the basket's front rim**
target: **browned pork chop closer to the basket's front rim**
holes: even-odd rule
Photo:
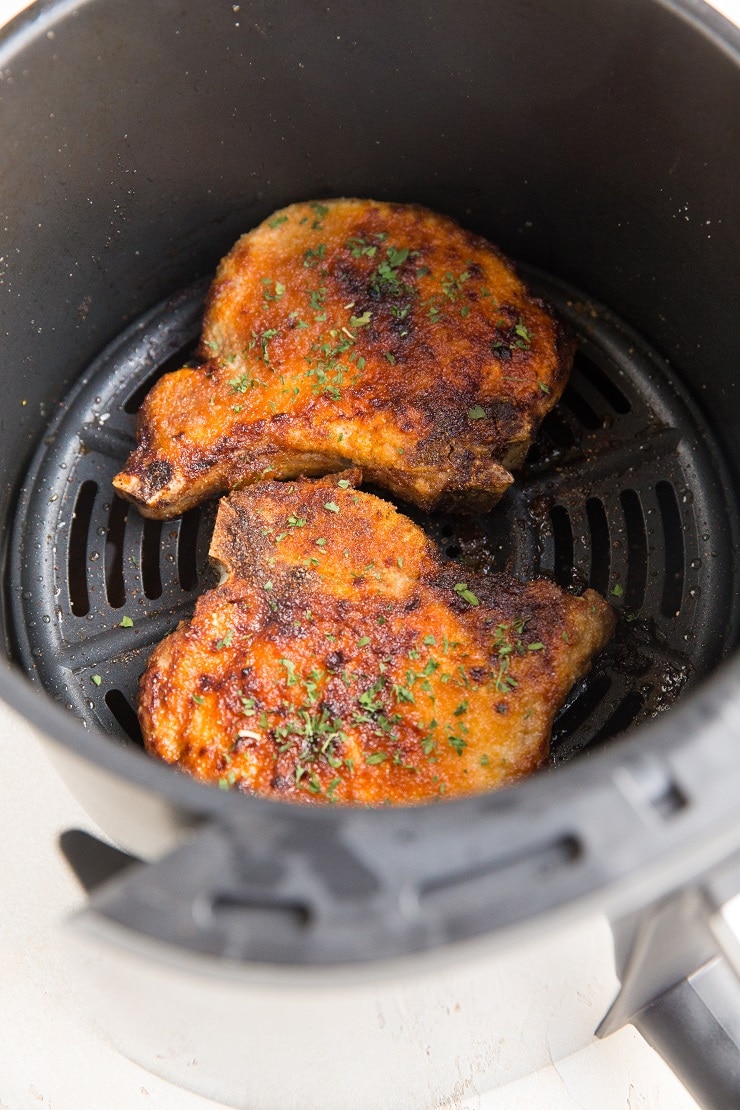
[[[372,805],[491,789],[547,758],[609,605],[463,573],[358,477],[222,501],[226,578],[141,680],[150,751],[246,793]]]

